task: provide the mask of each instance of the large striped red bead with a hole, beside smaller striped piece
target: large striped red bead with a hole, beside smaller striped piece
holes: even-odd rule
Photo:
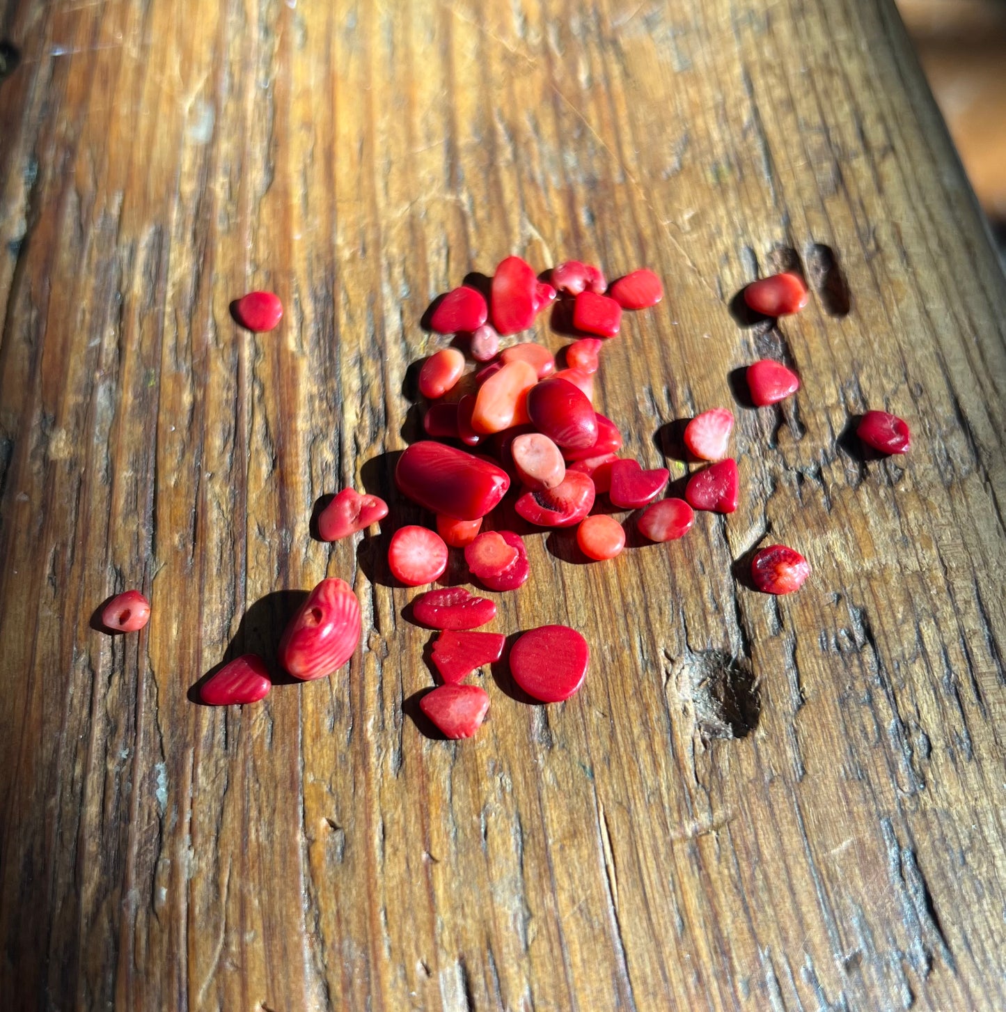
[[[344,580],[327,579],[308,595],[279,641],[279,664],[312,681],[341,668],[360,638],[359,601]]]

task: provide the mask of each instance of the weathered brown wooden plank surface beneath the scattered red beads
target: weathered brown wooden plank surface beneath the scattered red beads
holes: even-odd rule
[[[8,0],[2,34],[7,1007],[1006,1006],[1006,284],[888,0]],[[666,278],[598,385],[647,465],[755,355],[805,389],[739,409],[731,518],[591,567],[527,537],[494,627],[569,622],[591,672],[548,709],[487,675],[454,746],[380,537],[309,521],[390,490],[423,311],[511,251]],[[740,326],[792,257],[807,312]],[[230,319],[253,285],[274,334]],[[866,407],[906,459],[859,455]],[[732,575],[766,534],[792,598]],[[347,669],[190,701],[325,574]],[[129,586],[149,626],[90,628]]]

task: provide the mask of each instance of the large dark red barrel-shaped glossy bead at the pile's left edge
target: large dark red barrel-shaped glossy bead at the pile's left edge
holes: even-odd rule
[[[395,468],[395,483],[413,502],[456,520],[485,516],[510,487],[502,468],[430,440],[403,451]]]

